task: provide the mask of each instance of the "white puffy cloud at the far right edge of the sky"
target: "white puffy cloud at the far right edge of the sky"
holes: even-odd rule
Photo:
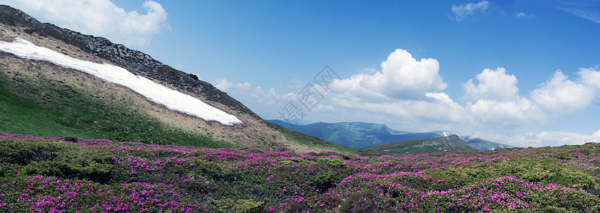
[[[560,70],[554,72],[551,80],[542,83],[540,88],[530,92],[532,100],[544,109],[557,114],[571,114],[585,109],[594,99],[595,91],[584,84],[567,79]]]

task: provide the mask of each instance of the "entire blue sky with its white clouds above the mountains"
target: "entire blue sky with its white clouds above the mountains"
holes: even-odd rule
[[[513,146],[600,139],[598,1],[0,3],[199,75],[264,119],[298,104],[328,65],[340,79],[302,123],[365,121]]]

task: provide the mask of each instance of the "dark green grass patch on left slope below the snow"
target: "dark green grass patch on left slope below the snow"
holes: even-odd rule
[[[0,132],[210,148],[233,146],[164,124],[127,107],[127,102],[96,97],[64,82],[10,77],[6,70],[0,71]]]

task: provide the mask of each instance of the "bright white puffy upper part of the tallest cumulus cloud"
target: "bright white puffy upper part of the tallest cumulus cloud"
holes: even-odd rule
[[[381,62],[381,72],[335,80],[332,92],[347,94],[357,100],[425,99],[426,93],[448,87],[438,70],[437,60],[423,58],[417,61],[406,50],[396,49]]]

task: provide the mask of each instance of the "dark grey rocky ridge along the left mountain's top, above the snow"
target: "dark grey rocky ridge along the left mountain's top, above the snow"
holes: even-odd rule
[[[93,35],[83,35],[75,31],[60,28],[51,23],[41,23],[19,9],[0,5],[0,22],[14,26],[23,26],[26,33],[36,33],[41,36],[51,36],[70,45],[75,45],[83,51],[93,53],[134,73],[170,84],[177,89],[185,90],[206,97],[211,102],[218,102],[235,111],[241,111],[258,119],[260,117],[236,99],[214,87],[208,82],[198,80],[196,75],[187,74],[173,67],[154,60],[147,54],[131,50],[122,44],[111,43],[110,40]]]

